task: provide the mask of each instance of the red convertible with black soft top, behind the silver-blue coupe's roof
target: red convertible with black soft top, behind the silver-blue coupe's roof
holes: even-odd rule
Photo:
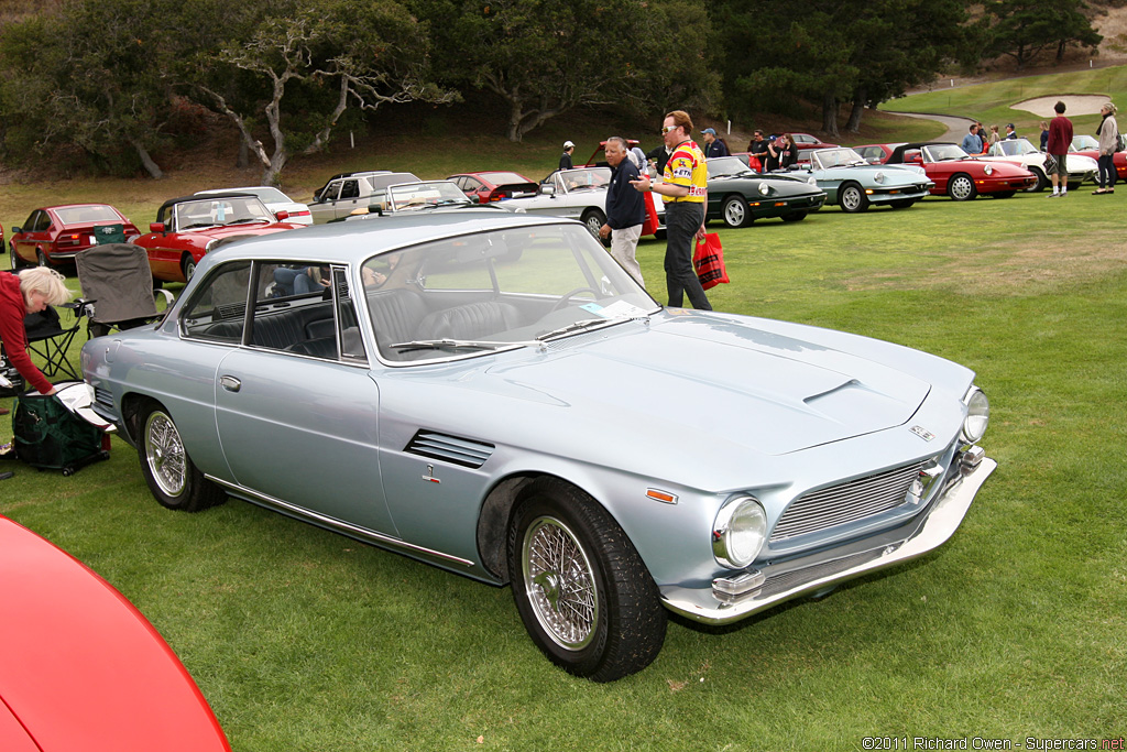
[[[149,253],[152,278],[187,282],[196,264],[219,244],[305,227],[278,222],[258,196],[213,193],[166,201],[149,233],[133,242]]]

